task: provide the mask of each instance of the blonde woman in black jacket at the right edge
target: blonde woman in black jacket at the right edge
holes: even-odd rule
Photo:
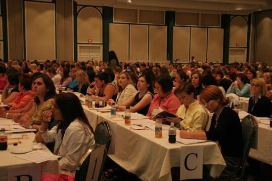
[[[272,113],[272,103],[267,95],[266,82],[263,78],[254,78],[251,82],[251,94],[249,99],[248,113],[257,117],[270,117]]]

